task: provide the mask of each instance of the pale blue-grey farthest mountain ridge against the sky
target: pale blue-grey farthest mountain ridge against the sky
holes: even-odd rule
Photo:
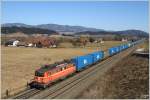
[[[2,24],[2,27],[27,27],[27,28],[41,28],[41,29],[48,29],[48,30],[54,30],[57,32],[83,32],[83,31],[103,31],[101,29],[96,28],[87,28],[83,26],[70,26],[70,25],[58,25],[58,24],[41,24],[41,25],[26,25],[23,23],[6,23]]]

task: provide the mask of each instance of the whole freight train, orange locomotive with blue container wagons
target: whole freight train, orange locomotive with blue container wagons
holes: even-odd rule
[[[129,47],[142,42],[143,40],[129,42],[123,45],[109,48],[108,56],[113,56]],[[82,71],[91,65],[100,62],[105,58],[104,51],[96,51],[83,56],[77,56],[70,60],[44,65],[35,71],[34,79],[29,84],[31,88],[46,88],[57,80],[64,79],[78,71]]]

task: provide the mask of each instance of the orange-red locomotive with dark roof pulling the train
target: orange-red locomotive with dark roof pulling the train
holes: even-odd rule
[[[69,76],[75,71],[76,68],[71,62],[60,62],[57,64],[44,65],[35,71],[34,79],[29,85],[31,88],[46,88],[52,82]]]

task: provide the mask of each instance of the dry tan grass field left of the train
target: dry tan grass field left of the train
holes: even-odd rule
[[[123,42],[106,41],[104,44],[88,44],[85,48],[24,48],[1,47],[2,93],[22,87],[33,78],[35,69],[96,50],[106,50]]]

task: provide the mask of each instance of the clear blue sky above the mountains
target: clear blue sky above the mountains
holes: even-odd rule
[[[79,25],[148,32],[147,1],[3,1],[1,23]]]

